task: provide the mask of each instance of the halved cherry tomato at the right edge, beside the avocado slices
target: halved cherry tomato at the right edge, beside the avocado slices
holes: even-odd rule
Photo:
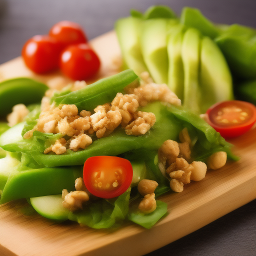
[[[216,103],[206,111],[206,114],[207,122],[224,138],[243,134],[256,121],[256,107],[240,100]]]

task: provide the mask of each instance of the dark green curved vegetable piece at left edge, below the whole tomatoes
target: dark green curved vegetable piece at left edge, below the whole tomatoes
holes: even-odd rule
[[[11,112],[18,103],[40,102],[48,87],[30,78],[14,78],[0,82],[0,117]]]

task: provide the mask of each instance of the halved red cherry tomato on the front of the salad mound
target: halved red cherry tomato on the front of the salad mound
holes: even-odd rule
[[[131,163],[117,156],[92,156],[83,166],[83,181],[95,196],[112,198],[124,193],[132,180]]]

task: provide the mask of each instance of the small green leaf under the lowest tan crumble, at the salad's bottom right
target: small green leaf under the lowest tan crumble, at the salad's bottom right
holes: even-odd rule
[[[137,207],[129,210],[128,219],[145,228],[151,228],[162,216],[167,213],[167,203],[156,200],[156,209],[150,213],[142,213]]]

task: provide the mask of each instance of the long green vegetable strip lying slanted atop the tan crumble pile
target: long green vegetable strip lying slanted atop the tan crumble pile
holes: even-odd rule
[[[75,104],[78,110],[93,110],[97,105],[111,102],[117,92],[132,82],[137,82],[138,76],[127,69],[118,74],[100,79],[82,89],[54,98],[57,104]]]

